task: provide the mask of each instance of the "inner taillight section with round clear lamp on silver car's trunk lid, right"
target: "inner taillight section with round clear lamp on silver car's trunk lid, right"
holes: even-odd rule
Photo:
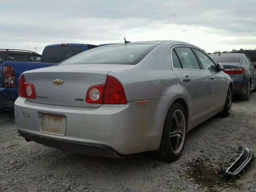
[[[86,94],[87,103],[102,103],[105,84],[89,87]]]

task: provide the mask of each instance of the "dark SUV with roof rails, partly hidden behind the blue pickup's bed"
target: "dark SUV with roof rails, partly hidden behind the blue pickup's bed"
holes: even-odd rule
[[[0,49],[0,59],[5,61],[40,62],[41,55],[28,50]]]

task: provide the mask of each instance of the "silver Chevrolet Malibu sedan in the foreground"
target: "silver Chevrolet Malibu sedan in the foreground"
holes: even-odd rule
[[[188,131],[230,114],[233,84],[223,70],[185,42],[94,48],[20,76],[18,133],[81,154],[156,151],[171,162],[182,154]]]

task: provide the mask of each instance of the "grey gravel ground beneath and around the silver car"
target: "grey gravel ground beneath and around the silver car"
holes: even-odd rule
[[[0,114],[0,191],[28,192],[256,192],[256,163],[227,181],[220,167],[238,146],[256,153],[256,92],[234,100],[228,118],[215,116],[188,133],[179,160],[166,164],[151,152],[102,158],[26,142],[18,136],[13,111]]]

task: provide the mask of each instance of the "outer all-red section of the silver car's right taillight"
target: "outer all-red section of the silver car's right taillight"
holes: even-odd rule
[[[114,77],[107,76],[103,104],[126,104],[126,96],[122,84]]]

